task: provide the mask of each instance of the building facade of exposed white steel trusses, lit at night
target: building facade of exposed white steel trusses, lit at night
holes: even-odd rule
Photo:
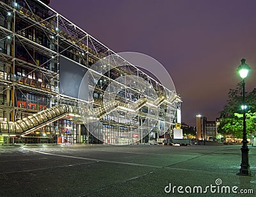
[[[2,135],[22,133],[20,122],[29,125],[28,116],[58,104],[80,107],[81,116],[61,116],[52,123],[45,118],[47,125],[30,129],[31,134],[46,132],[46,127],[51,134],[61,134],[61,128],[72,126],[81,142],[83,122],[100,141],[122,144],[150,131],[166,132],[175,123],[181,102],[175,90],[157,83],[46,4],[1,0],[0,10]],[[88,99],[63,93],[61,58],[88,70]]]

